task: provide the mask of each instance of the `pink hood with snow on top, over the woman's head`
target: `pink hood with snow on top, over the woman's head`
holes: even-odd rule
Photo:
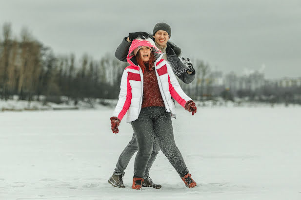
[[[162,52],[156,47],[155,42],[151,38],[134,39],[130,46],[129,53],[126,57],[126,60],[130,65],[138,66],[138,64],[134,64],[134,63],[137,63],[135,55],[134,55],[134,50],[140,46],[151,47],[154,54],[162,54]]]

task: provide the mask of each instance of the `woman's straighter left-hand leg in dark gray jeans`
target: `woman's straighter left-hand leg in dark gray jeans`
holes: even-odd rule
[[[131,122],[138,144],[138,153],[134,164],[135,177],[144,177],[153,151],[154,128],[150,108],[141,109],[138,119]]]

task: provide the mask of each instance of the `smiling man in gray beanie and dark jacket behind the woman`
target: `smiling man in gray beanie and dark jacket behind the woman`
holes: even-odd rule
[[[163,55],[163,59],[167,60],[170,63],[170,66],[173,69],[173,72],[179,77],[180,80],[182,80],[184,83],[191,83],[195,78],[195,70],[193,69],[193,66],[190,62],[190,60],[187,58],[181,59],[179,56],[181,55],[181,49],[168,41],[171,36],[171,28],[166,23],[157,23],[153,29],[153,40],[158,47],[158,49],[161,50],[161,52],[165,53]],[[118,46],[115,52],[115,57],[119,59],[120,61],[127,62],[126,56],[128,54],[129,48],[131,46],[131,42],[133,39],[137,37],[149,37],[149,35],[145,32],[135,32],[135,33],[129,33],[128,37],[124,37],[122,39],[122,42]],[[111,183],[115,187],[125,187],[123,184],[123,175],[124,170],[129,164],[131,158],[133,155],[138,151],[138,145],[136,141],[135,134],[133,134],[132,140],[129,142],[129,144],[124,148],[122,153],[120,154],[120,157],[118,159],[118,162],[116,164],[116,168],[113,172],[113,175],[108,180],[109,183]],[[154,139],[154,147],[152,155],[148,161],[147,167],[145,169],[144,174],[144,181],[142,183],[142,187],[154,187],[156,189],[161,188],[160,184],[154,183],[150,177],[149,177],[149,170],[154,163],[158,152],[160,151],[160,146],[158,143],[158,138]]]

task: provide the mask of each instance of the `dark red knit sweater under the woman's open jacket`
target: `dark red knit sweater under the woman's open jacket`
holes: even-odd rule
[[[164,101],[159,89],[158,80],[155,69],[148,70],[148,67],[143,73],[143,96],[142,107],[159,106],[164,107]]]

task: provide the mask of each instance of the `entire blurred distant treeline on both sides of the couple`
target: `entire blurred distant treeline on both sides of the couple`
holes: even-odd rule
[[[201,60],[194,63],[196,78],[191,84],[181,81],[182,89],[193,99],[234,101],[235,97],[248,101],[301,104],[301,88],[278,88],[267,85],[256,91],[229,91],[214,85],[210,66]],[[86,98],[117,99],[120,79],[127,63],[114,55],[94,60],[89,55],[54,55],[50,47],[34,39],[29,31],[21,30],[20,38],[13,37],[11,24],[2,25],[0,36],[0,98],[17,96],[31,101],[45,96],[46,101],[60,101],[61,96],[77,102]],[[66,98],[64,98],[66,99]]]

